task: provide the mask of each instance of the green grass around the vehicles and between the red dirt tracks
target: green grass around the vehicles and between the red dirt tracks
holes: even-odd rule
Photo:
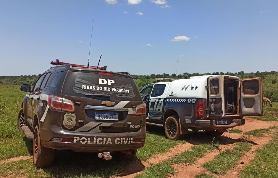
[[[21,107],[21,100],[25,93],[20,91],[20,86],[0,85],[0,161],[7,158],[32,155],[32,141],[27,140],[25,135],[17,129],[17,113]],[[277,121],[278,103],[273,107],[264,107],[264,116],[253,117],[264,121]],[[273,116],[271,114],[274,114]],[[275,115],[276,114],[276,115]],[[275,117],[276,116],[276,117]],[[266,119],[268,118],[268,119]],[[232,132],[240,135],[248,134],[255,137],[264,137],[265,133],[272,132],[269,129],[258,129],[243,133],[239,129],[232,129]],[[136,159],[132,162],[121,162],[118,159],[105,161],[97,158],[94,153],[75,153],[72,151],[56,151],[53,166],[45,169],[36,169],[33,166],[33,160],[22,160],[0,164],[0,177],[59,177],[59,178],[106,178],[122,174],[129,163],[148,161],[153,155],[165,153],[167,149],[177,144],[191,143],[194,146],[191,150],[177,154],[169,159],[161,161],[158,164],[151,164],[144,170],[143,174],[136,178],[155,178],[168,177],[176,174],[173,165],[178,163],[188,163],[194,165],[199,158],[205,154],[219,149],[219,146],[227,143],[227,138],[208,137],[205,132],[189,134],[185,139],[173,141],[166,139],[163,129],[156,127],[147,127],[146,144],[139,149]],[[224,174],[232,168],[242,156],[243,151],[250,149],[250,143],[244,140],[228,139],[229,143],[235,143],[235,147],[230,150],[223,150],[212,161],[207,162],[203,167],[208,171]],[[274,140],[267,144],[264,149],[258,150],[258,156],[243,171],[242,177],[252,177],[252,175],[261,175],[260,177],[277,177],[277,144],[278,134],[275,134]],[[227,163],[227,160],[228,163]],[[264,168],[261,168],[263,165]],[[142,165],[141,165],[142,166]],[[214,178],[210,174],[198,174],[196,178]]]

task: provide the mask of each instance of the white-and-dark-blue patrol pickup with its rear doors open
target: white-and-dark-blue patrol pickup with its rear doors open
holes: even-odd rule
[[[140,93],[149,100],[147,124],[164,127],[169,139],[180,139],[188,129],[220,136],[226,129],[244,125],[243,116],[263,114],[262,78],[157,78]]]

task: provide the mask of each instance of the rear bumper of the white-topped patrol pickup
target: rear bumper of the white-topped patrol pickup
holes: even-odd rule
[[[235,126],[239,125],[244,125],[245,124],[245,119],[240,118],[240,119],[233,119],[231,124],[227,125],[216,125],[215,120],[197,120],[194,123],[194,126],[196,128],[211,128],[211,129],[229,129],[229,128],[234,128]]]

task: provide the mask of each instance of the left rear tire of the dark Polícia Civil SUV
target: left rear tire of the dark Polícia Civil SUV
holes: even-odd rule
[[[33,138],[33,163],[36,168],[51,166],[54,159],[54,150],[41,145],[40,132],[38,125],[34,130]]]

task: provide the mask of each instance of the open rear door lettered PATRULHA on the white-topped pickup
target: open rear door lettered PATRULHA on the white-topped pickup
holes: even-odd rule
[[[208,107],[209,118],[224,116],[224,76],[208,78]]]

